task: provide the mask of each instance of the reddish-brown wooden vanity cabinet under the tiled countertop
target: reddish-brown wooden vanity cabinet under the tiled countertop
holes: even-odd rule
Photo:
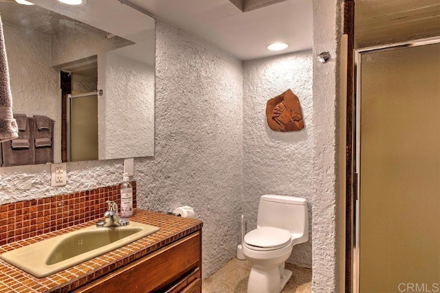
[[[74,292],[201,292],[201,230]]]

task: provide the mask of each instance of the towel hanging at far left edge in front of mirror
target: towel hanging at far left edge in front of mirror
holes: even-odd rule
[[[12,116],[12,94],[9,84],[8,58],[0,17],[0,142],[19,137],[17,122]]]

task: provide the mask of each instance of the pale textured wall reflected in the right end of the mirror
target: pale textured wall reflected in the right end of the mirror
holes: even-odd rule
[[[105,59],[106,95],[100,101],[105,120],[100,124],[99,158],[154,155],[154,68],[111,52]]]

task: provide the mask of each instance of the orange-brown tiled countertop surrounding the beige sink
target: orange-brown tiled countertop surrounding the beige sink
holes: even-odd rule
[[[140,259],[146,254],[158,250],[177,239],[190,235],[192,232],[199,230],[203,225],[202,222],[197,219],[185,219],[139,209],[135,209],[135,214],[130,220],[157,226],[161,229],[152,235],[122,246],[122,248],[107,252],[100,257],[85,261],[84,263],[80,263],[72,268],[42,279],[36,278],[0,260],[0,292],[69,292],[89,281],[98,279],[100,276],[116,268],[120,268],[127,263]],[[64,234],[65,232],[85,228],[95,223],[96,221],[89,221],[78,226],[5,244],[0,246],[0,254],[36,241]]]

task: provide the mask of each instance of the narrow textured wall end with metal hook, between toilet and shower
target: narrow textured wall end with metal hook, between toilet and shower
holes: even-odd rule
[[[339,42],[342,30],[342,1],[314,0],[315,54],[330,52],[331,59],[322,64],[314,57],[314,193],[312,199],[314,292],[340,292],[336,267],[338,243],[336,222],[336,117],[339,96]]]

